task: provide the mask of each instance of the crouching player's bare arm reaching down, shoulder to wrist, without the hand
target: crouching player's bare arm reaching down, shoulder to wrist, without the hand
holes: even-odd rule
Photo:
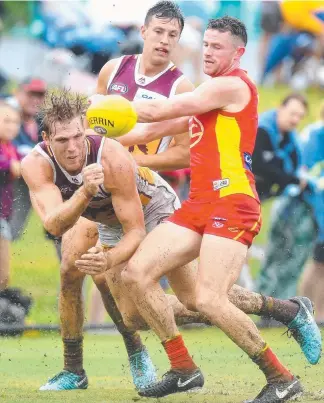
[[[135,182],[135,164],[129,153],[118,143],[108,140],[102,153],[104,186],[111,192],[112,203],[124,236],[106,252],[111,266],[131,258],[144,239],[145,225],[142,204]]]

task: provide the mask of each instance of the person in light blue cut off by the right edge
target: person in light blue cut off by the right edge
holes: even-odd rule
[[[303,164],[315,180],[315,190],[306,194],[317,224],[317,239],[313,259],[307,266],[301,282],[301,292],[315,304],[317,322],[324,322],[324,104],[320,121],[308,126],[302,133]],[[312,220],[312,216],[309,217]],[[311,250],[309,245],[308,250]]]

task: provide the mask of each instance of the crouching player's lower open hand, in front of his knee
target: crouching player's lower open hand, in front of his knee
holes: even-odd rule
[[[75,261],[76,267],[84,274],[96,276],[109,270],[111,267],[109,254],[105,253],[101,247],[90,248],[87,253]]]

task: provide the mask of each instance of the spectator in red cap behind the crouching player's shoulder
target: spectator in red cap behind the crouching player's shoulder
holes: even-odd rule
[[[27,155],[40,140],[40,126],[36,116],[44,100],[45,92],[46,83],[43,80],[29,78],[20,84],[14,97],[8,99],[8,102],[21,114],[19,134],[14,140],[14,145],[21,157]],[[14,195],[10,226],[12,239],[16,240],[21,236],[31,209],[29,191],[22,178],[15,183]]]

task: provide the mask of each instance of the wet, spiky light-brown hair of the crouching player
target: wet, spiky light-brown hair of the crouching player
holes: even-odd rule
[[[50,135],[55,123],[69,122],[77,116],[83,118],[88,106],[84,95],[67,89],[47,91],[38,114],[42,130]]]

